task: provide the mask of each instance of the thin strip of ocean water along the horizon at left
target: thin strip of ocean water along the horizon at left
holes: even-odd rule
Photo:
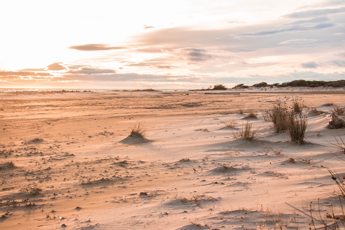
[[[36,92],[44,92],[44,91],[92,91],[92,92],[108,92],[111,90],[136,90],[136,89],[37,89],[37,88],[0,88],[0,92],[22,92],[22,91],[36,91]],[[191,89],[155,89],[160,91],[188,91]]]

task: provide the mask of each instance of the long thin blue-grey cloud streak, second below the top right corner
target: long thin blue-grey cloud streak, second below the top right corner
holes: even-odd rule
[[[239,33],[235,35],[250,36],[250,37],[270,36],[270,35],[275,35],[278,33],[321,30],[321,29],[330,28],[334,26],[336,26],[336,24],[334,23],[319,23],[314,26],[293,26],[293,27],[286,27],[282,29],[259,31],[259,32],[254,32],[254,33]]]

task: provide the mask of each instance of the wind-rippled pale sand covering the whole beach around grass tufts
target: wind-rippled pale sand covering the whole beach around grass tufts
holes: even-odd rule
[[[341,214],[324,167],[344,176],[328,142],[345,130],[309,113],[314,144],[297,146],[260,110],[302,97],[329,112],[344,91],[226,92],[0,93],[0,229],[308,229],[311,202]],[[225,128],[239,108],[259,111],[256,140]],[[134,122],[151,141],[128,138]]]

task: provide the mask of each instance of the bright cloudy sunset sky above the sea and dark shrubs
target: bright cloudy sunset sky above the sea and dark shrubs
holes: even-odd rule
[[[11,0],[0,8],[0,88],[345,79],[345,0]]]

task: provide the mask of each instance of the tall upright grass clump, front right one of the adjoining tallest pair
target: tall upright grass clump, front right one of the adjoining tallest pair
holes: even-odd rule
[[[289,136],[292,141],[297,144],[305,143],[305,135],[306,129],[308,125],[307,116],[299,114],[299,116],[295,116],[295,118],[290,119],[290,122],[287,125]]]

